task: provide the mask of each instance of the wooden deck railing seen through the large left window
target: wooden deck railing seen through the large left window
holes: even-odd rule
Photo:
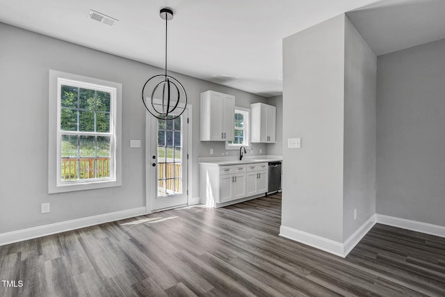
[[[63,181],[110,177],[110,157],[63,157],[61,171]]]

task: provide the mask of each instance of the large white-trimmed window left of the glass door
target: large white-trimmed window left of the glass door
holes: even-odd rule
[[[49,193],[120,186],[122,85],[49,74]]]

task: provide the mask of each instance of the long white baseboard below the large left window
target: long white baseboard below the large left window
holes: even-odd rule
[[[88,227],[91,225],[112,222],[114,220],[122,220],[124,218],[140,216],[143,214],[146,214],[145,207],[138,207],[135,209],[126,209],[122,211],[111,212],[108,214],[99,214],[97,216],[88,216],[86,218],[77,218],[76,220],[66,220],[65,222],[60,223],[31,227],[28,229],[17,230],[13,232],[6,232],[0,234],[0,246],[4,246],[9,243],[15,243],[17,241],[24,241],[27,239],[34,239],[37,237]]]

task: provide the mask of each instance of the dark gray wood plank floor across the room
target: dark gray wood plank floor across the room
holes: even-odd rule
[[[284,239],[281,196],[0,247],[0,296],[445,296],[445,239],[375,225],[346,259]]]

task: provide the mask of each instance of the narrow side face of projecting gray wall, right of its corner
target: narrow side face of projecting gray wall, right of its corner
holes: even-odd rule
[[[348,17],[345,33],[343,241],[375,214],[377,96],[377,57]]]

